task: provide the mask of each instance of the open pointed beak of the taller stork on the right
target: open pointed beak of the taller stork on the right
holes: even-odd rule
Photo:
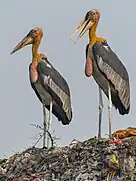
[[[70,38],[72,39],[72,37],[81,30],[80,34],[78,35],[78,37],[76,39],[76,41],[77,41],[78,39],[80,39],[85,34],[85,32],[87,30],[89,30],[92,27],[93,24],[94,24],[94,22],[92,20],[82,21],[79,24],[79,26],[76,28],[76,30],[73,32],[73,34],[71,35]],[[76,43],[76,41],[74,43]]]

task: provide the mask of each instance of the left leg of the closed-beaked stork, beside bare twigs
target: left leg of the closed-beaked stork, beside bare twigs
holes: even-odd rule
[[[46,110],[45,105],[43,104],[43,148],[46,146],[46,139],[47,139],[47,119],[46,119]]]

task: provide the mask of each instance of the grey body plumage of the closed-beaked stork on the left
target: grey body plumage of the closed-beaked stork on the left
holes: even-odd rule
[[[30,76],[30,83],[37,97],[48,110],[52,99],[53,114],[62,124],[69,124],[72,119],[72,107],[70,89],[66,80],[44,56],[41,57],[37,70],[38,80],[36,82],[32,82]]]

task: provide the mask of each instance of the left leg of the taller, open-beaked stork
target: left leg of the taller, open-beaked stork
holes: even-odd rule
[[[98,128],[98,138],[101,138],[102,112],[103,112],[102,90],[99,87],[99,128]]]

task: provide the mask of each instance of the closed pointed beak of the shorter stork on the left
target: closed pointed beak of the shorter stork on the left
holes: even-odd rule
[[[21,42],[13,49],[13,51],[10,54],[17,52],[21,48],[32,43],[33,43],[33,38],[30,35],[27,35],[26,37],[23,38],[23,40],[21,40]]]

